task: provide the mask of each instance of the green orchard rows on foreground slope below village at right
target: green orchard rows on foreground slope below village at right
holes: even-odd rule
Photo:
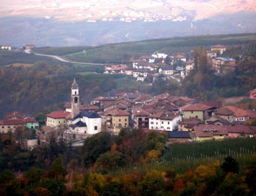
[[[169,146],[162,157],[155,163],[136,164],[111,171],[112,175],[121,175],[133,171],[157,170],[184,173],[199,165],[207,165],[219,161],[226,156],[235,158],[240,167],[256,162],[256,138],[208,141],[202,143],[179,144]]]

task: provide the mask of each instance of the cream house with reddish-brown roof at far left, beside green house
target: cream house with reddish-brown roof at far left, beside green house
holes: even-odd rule
[[[23,119],[5,119],[0,121],[0,132],[7,133],[8,131],[14,132],[18,127],[24,127],[26,122]]]

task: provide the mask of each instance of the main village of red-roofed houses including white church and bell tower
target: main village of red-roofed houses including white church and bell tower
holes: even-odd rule
[[[84,105],[80,102],[75,79],[71,85],[70,102],[65,103],[64,110],[53,111],[45,117],[44,134],[65,125],[65,133],[77,138],[103,130],[119,133],[121,129],[131,128],[167,132],[169,138],[195,141],[254,137],[256,134],[256,127],[247,125],[256,119],[255,110],[224,106],[220,101],[198,102],[193,98],[169,94],[151,96],[140,92],[97,97]],[[34,118],[19,112],[8,114],[0,121],[2,133],[14,131],[18,126],[38,129]]]

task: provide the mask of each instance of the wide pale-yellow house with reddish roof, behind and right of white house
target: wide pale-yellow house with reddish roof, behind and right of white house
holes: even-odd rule
[[[184,115],[185,119],[195,117],[200,119],[201,121],[204,121],[212,116],[212,113],[216,110],[216,108],[201,103],[195,103],[184,105],[180,107],[180,110],[180,112]]]

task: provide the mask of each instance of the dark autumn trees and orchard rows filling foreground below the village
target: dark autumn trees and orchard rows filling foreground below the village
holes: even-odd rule
[[[49,146],[29,151],[26,134],[0,134],[2,196],[256,194],[255,138],[166,147],[164,133],[133,129],[100,132],[77,148],[52,134]]]

